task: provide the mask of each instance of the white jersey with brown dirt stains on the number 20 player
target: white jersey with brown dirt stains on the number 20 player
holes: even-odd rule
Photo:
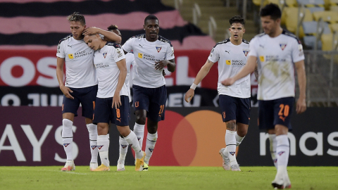
[[[258,60],[258,100],[294,97],[294,63],[304,60],[303,46],[294,34],[259,34],[250,42],[249,56]]]

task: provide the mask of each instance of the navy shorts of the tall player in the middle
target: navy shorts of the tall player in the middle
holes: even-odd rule
[[[164,120],[167,89],[146,88],[132,85],[134,110],[146,110],[146,117],[154,122]]]

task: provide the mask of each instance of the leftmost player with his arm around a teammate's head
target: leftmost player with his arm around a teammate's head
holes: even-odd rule
[[[97,167],[97,127],[92,123],[94,113],[94,102],[97,92],[97,80],[93,64],[94,50],[84,43],[83,32],[94,31],[104,35],[111,41],[121,40],[113,32],[101,30],[96,27],[86,28],[84,16],[73,13],[68,16],[70,23],[70,34],[60,40],[56,53],[56,76],[58,84],[63,93],[62,106],[62,139],[63,148],[67,156],[65,166],[62,171],[75,170],[73,160],[73,121],[77,116],[77,109],[82,105],[82,116],[85,118],[89,132],[90,150],[92,159],[90,168]],[[63,83],[63,64],[65,64],[65,82]]]

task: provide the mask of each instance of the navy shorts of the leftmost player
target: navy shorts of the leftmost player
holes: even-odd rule
[[[74,99],[68,99],[63,95],[62,113],[74,113],[77,116],[77,109],[82,106],[82,116],[92,119],[94,114],[97,85],[85,88],[70,88]]]

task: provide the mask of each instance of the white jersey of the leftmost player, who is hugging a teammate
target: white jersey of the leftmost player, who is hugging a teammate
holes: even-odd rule
[[[83,39],[76,40],[70,34],[60,40],[56,56],[65,58],[65,86],[91,87],[97,84],[93,64],[94,50]]]

